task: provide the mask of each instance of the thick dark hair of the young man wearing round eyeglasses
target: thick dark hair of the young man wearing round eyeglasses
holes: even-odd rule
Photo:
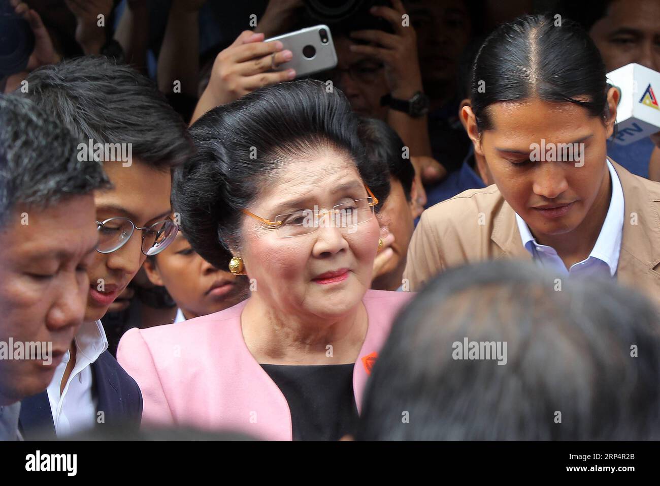
[[[131,143],[133,157],[170,169],[191,152],[180,116],[150,79],[104,56],[46,65],[26,78],[28,94],[82,142]]]

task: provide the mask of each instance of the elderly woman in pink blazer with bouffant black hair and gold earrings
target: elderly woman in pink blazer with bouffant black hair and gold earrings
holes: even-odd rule
[[[191,128],[174,208],[193,249],[247,274],[251,297],[177,325],[131,329],[117,357],[143,423],[276,440],[354,430],[364,384],[408,292],[369,290],[387,169],[367,163],[338,90],[294,81]],[[383,194],[385,192],[385,194]]]

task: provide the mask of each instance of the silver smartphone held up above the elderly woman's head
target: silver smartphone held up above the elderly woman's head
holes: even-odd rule
[[[264,42],[279,40],[284,49],[293,53],[293,58],[280,64],[273,71],[296,69],[296,78],[332,69],[337,65],[337,52],[332,34],[327,25],[302,28],[295,32],[271,37]]]

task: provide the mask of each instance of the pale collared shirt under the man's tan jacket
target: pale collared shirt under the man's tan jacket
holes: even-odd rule
[[[610,171],[612,181],[612,197],[605,216],[605,222],[603,222],[603,227],[601,227],[601,232],[595,245],[593,245],[593,249],[591,249],[591,253],[589,253],[589,257],[572,264],[570,269],[566,270],[566,265],[554,248],[537,243],[531,231],[529,231],[527,223],[517,213],[515,214],[523,246],[529,251],[536,263],[563,276],[600,274],[613,277],[616,274],[619,254],[621,253],[625,209],[621,181],[609,160],[607,161],[607,168]]]

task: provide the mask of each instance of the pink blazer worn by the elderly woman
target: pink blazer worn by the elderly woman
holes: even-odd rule
[[[368,329],[353,370],[358,412],[376,354],[411,292],[368,290]],[[234,430],[291,440],[291,414],[279,387],[248,350],[240,315],[247,301],[177,324],[131,329],[117,360],[144,399],[143,424]]]

